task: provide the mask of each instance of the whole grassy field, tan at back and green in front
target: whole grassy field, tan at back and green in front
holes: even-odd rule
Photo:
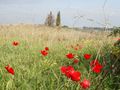
[[[110,57],[117,38],[108,38],[108,34],[42,25],[1,25],[0,90],[119,90]],[[46,56],[41,53],[45,47],[49,49]],[[93,60],[100,63],[98,73],[91,69]],[[6,69],[8,65],[14,73],[8,70],[10,67]],[[72,66],[80,75],[68,77],[63,66]]]

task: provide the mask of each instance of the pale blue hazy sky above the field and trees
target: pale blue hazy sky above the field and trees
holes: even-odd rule
[[[0,24],[44,24],[52,11],[61,12],[62,25],[120,26],[120,0],[0,0]]]

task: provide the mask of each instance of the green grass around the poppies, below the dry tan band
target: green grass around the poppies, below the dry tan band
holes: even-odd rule
[[[1,39],[2,41],[4,39]],[[82,90],[79,83],[73,82],[61,74],[60,67],[62,65],[73,65],[76,70],[81,72],[81,81],[84,78],[90,79],[90,90],[95,90],[98,86],[97,90],[114,90],[112,86],[114,82],[112,80],[116,80],[116,78],[112,79],[110,75],[107,75],[104,79],[104,71],[100,74],[90,71],[88,74],[90,70],[89,63],[97,56],[98,49],[93,46],[98,44],[97,41],[95,43],[86,43],[84,48],[78,51],[73,48],[67,49],[66,46],[82,41],[71,43],[69,41],[57,42],[49,46],[50,51],[47,57],[42,57],[39,52],[47,45],[42,45],[45,42],[44,40],[38,40],[37,42],[28,40],[26,42],[23,38],[20,38],[20,45],[16,47],[11,45],[11,41],[11,39],[6,40],[0,45],[0,90]],[[110,45],[106,44],[106,47],[101,50],[101,52],[104,51],[106,53],[103,55],[108,61],[106,66],[108,66],[110,61],[109,47]],[[118,44],[114,49],[115,51],[112,50],[114,53],[119,51],[117,50]],[[80,59],[80,62],[74,64],[72,60],[68,60],[65,56],[68,52],[77,55],[76,58]],[[90,60],[85,60],[83,57],[85,53],[92,55]],[[102,54],[104,53],[98,54],[97,57],[101,64],[103,64],[104,57]],[[13,77],[4,68],[7,64],[10,64],[15,70]],[[109,70],[110,67],[106,66],[104,69]]]

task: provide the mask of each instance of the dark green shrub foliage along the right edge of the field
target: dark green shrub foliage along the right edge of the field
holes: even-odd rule
[[[112,72],[111,72],[111,89],[118,90],[120,89],[120,40],[117,40],[114,43],[114,46],[111,48],[111,65],[112,65]]]

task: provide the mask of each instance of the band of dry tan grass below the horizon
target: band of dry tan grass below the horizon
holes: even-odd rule
[[[107,38],[107,32],[84,32],[75,31],[72,29],[46,27],[42,25],[1,25],[0,37],[5,41],[10,39],[22,38],[30,42],[44,41],[44,44],[53,45],[58,42],[69,41],[71,43],[80,42],[82,40],[97,40],[107,42],[111,41],[111,38]]]

